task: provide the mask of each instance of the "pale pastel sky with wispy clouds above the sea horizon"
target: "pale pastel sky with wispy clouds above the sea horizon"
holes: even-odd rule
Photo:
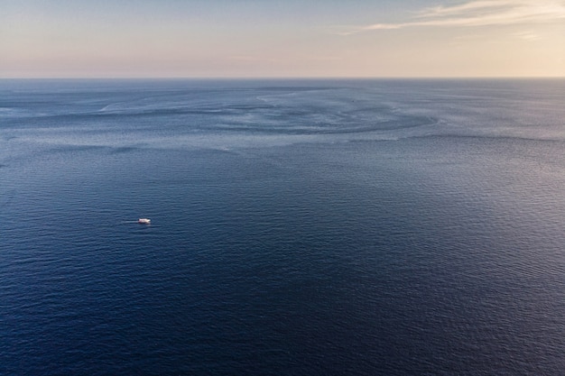
[[[0,0],[0,78],[565,77],[565,0]]]

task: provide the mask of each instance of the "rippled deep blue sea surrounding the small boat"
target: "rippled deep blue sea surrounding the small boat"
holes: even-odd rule
[[[560,374],[564,146],[562,79],[0,80],[0,374]]]

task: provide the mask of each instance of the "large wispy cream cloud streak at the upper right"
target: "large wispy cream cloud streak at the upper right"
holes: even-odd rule
[[[405,23],[374,23],[344,34],[406,27],[476,27],[560,20],[565,20],[565,0],[474,0],[426,8]]]

